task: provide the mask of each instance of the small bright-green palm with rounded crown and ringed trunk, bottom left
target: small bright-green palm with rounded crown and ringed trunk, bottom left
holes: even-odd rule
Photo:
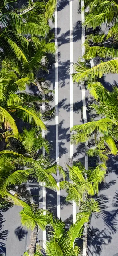
[[[22,225],[32,230],[28,253],[29,256],[34,256],[38,227],[45,230],[49,218],[47,218],[47,214],[44,215],[44,210],[37,210],[36,207],[33,208],[33,206],[24,207],[20,212],[20,216]]]

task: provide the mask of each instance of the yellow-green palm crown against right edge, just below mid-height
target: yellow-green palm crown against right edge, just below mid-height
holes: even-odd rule
[[[99,110],[97,105],[92,104],[92,108],[95,107]],[[89,144],[91,144],[87,152],[89,156],[98,156],[101,162],[106,162],[109,154],[118,154],[114,141],[117,139],[117,122],[115,120],[101,118],[85,125],[73,126],[72,130],[74,131],[71,136],[72,143],[78,144],[89,140]]]

